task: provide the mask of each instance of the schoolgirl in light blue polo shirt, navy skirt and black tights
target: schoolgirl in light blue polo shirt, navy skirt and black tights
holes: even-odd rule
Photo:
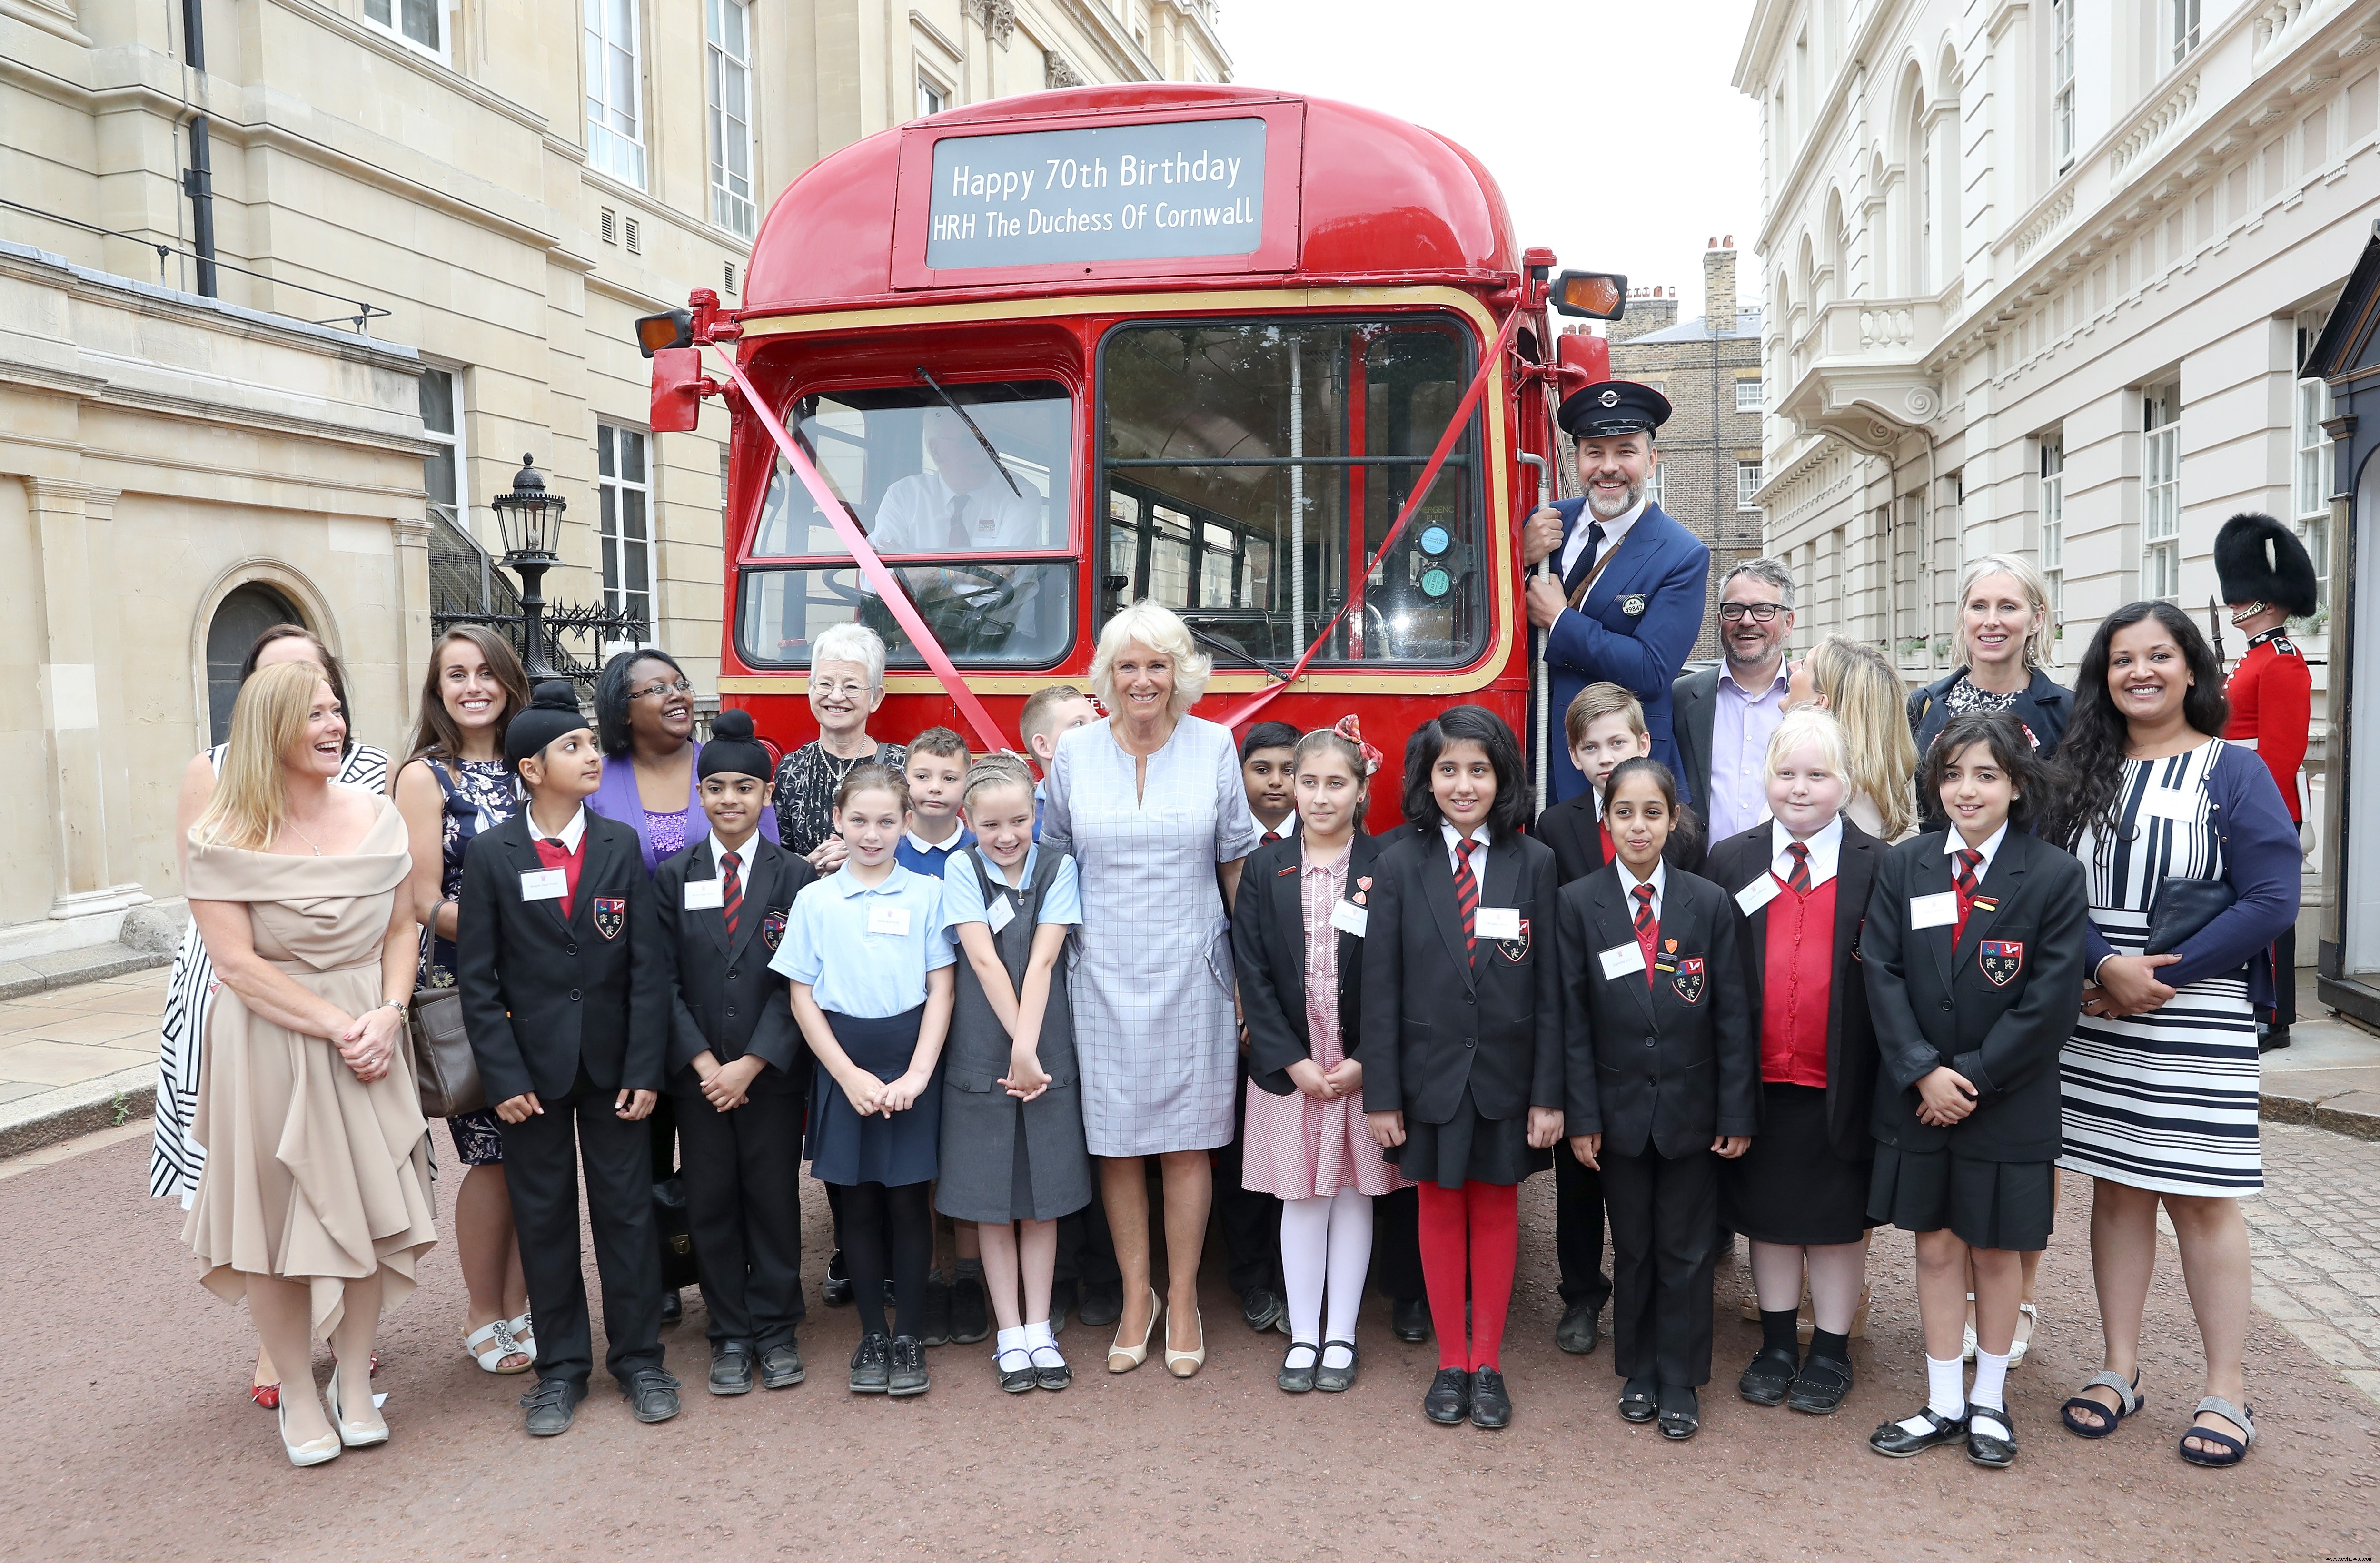
[[[923,1394],[919,1316],[933,1258],[935,1142],[942,1128],[942,1037],[952,949],[942,883],[895,861],[909,787],[885,766],[857,766],[835,792],[850,856],[793,902],[769,963],[793,983],[793,1018],[816,1056],[809,1175],[843,1189],[843,1251],[859,1304],[854,1394]],[[890,1249],[890,1254],[885,1251]],[[883,1282],[895,1330],[885,1335]]]

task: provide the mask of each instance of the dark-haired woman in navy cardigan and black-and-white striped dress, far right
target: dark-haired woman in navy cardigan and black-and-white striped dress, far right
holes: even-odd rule
[[[2163,1204],[2206,1349],[2206,1399],[2180,1444],[2194,1465],[2235,1465],[2256,1437],[2240,1366],[2240,1197],[2263,1187],[2254,1004],[2271,1004],[2271,947],[2299,895],[2290,811],[2271,771],[2216,737],[2223,718],[2223,668],[2190,616],[2135,602],[2092,638],[2056,757],[2056,837],[2082,859],[2092,895],[2092,980],[2061,1056],[2059,1166],[2094,1180],[2106,1337],[2106,1370],[2066,1401],[2063,1420],[2106,1437],[2140,1406],[2140,1316]],[[2147,954],[2175,880],[2223,880],[2235,899],[2171,952]]]

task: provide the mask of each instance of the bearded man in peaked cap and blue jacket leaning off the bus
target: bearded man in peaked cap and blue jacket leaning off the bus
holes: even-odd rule
[[[1652,757],[1678,773],[1685,802],[1699,804],[1678,766],[1668,690],[1702,638],[1711,550],[1645,492],[1661,462],[1654,431],[1668,421],[1668,397],[1599,381],[1564,397],[1554,421],[1578,442],[1585,495],[1535,511],[1521,531],[1523,564],[1554,559],[1554,573],[1528,580],[1528,621],[1545,630],[1547,707],[1559,723],[1590,683],[1621,685],[1645,707]],[[1552,771],[1545,802],[1587,790],[1561,745]]]

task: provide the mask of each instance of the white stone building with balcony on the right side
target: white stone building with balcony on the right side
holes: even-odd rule
[[[2071,680],[2125,602],[2204,623],[2235,511],[2328,569],[2299,369],[2380,216],[2370,0],[1759,0],[1735,83],[1764,124],[1759,502],[1804,638],[1933,680],[1961,564],[2016,552]],[[2316,821],[2328,607],[2297,638]]]

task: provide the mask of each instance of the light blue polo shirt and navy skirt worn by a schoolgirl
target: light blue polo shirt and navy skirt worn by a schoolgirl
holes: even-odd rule
[[[916,1054],[926,973],[950,963],[942,883],[897,864],[876,887],[854,880],[850,866],[807,885],[769,961],[771,971],[809,985],[852,1063],[888,1082],[900,1080]],[[940,1135],[940,1061],[916,1106],[890,1118],[862,1118],[826,1066],[816,1066],[804,1154],[819,1182],[928,1182]]]

